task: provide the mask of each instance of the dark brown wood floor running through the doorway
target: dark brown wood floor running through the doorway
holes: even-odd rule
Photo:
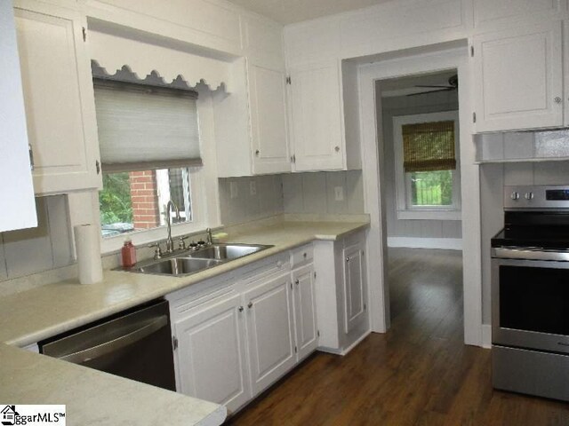
[[[392,327],[345,357],[318,352],[228,424],[569,425],[569,404],[496,391],[463,344],[460,253],[391,249]]]

